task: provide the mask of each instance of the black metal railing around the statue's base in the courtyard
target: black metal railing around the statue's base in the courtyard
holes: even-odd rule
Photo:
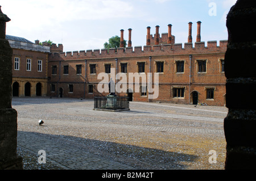
[[[94,109],[129,110],[129,97],[127,96],[104,96],[94,97]]]

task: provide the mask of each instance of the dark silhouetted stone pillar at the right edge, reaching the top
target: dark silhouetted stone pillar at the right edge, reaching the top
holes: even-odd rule
[[[255,0],[238,0],[226,20],[225,169],[256,169],[255,20]]]

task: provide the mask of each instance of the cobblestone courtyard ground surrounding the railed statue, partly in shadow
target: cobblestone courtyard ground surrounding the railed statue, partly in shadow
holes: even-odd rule
[[[93,100],[48,97],[12,105],[24,169],[224,169],[226,107],[130,102],[130,111],[106,112]]]

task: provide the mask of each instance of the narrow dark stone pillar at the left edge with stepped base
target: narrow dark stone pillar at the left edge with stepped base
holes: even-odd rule
[[[13,80],[13,49],[5,39],[6,22],[10,19],[0,6],[0,169],[22,169],[22,158],[17,157],[17,112],[11,108]]]

